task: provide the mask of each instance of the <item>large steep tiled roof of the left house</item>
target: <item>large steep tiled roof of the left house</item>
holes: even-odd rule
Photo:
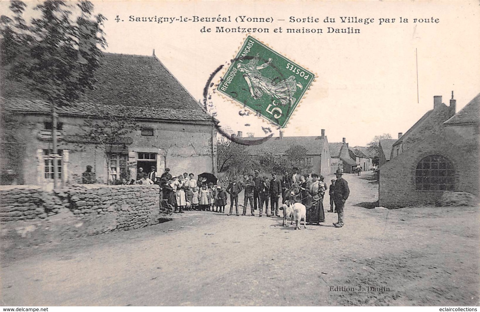
[[[212,120],[155,56],[105,53],[95,79],[94,90],[86,91],[76,105],[59,113],[93,115],[98,110],[115,113],[125,108],[139,118]],[[24,85],[8,79],[2,79],[1,96],[5,108],[14,109],[18,104],[25,112],[48,108]]]

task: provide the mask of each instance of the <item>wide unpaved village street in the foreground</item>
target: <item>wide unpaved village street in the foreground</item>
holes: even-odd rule
[[[2,254],[0,305],[479,304],[478,207],[367,209],[378,184],[344,178],[344,228],[190,211]]]

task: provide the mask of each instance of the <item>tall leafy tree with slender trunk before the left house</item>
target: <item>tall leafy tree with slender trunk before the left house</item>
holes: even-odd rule
[[[61,0],[37,4],[39,18],[25,23],[26,4],[11,1],[13,20],[0,17],[2,63],[10,76],[22,81],[51,105],[53,155],[57,151],[57,111],[93,89],[94,72],[107,42],[102,30],[106,18],[93,15],[89,1],[74,5]],[[57,187],[57,158],[53,159],[54,187]]]

